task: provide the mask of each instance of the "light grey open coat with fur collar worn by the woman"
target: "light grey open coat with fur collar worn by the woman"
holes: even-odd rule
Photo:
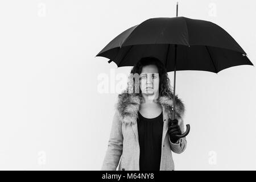
[[[108,149],[102,164],[101,170],[115,171],[139,171],[139,138],[137,118],[142,97],[139,94],[121,93],[118,95],[118,102],[115,105],[112,129],[108,142]],[[171,106],[173,105],[173,94],[171,97],[160,96],[158,102],[163,107],[163,135],[162,154],[160,161],[160,171],[174,170],[174,160],[172,152],[180,154],[187,145],[186,138],[180,138],[176,143],[172,143],[169,138],[168,118],[171,118]],[[179,121],[181,133],[184,133],[185,107],[183,102],[175,96],[175,117]],[[120,160],[121,159],[121,160]]]

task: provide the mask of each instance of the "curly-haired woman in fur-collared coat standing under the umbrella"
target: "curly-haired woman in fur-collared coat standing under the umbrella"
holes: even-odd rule
[[[172,101],[164,65],[155,57],[143,57],[131,69],[127,89],[118,95],[101,170],[116,170],[118,163],[119,171],[174,170],[172,152],[183,152],[187,140],[175,137],[184,133],[185,108],[175,96],[172,121]]]

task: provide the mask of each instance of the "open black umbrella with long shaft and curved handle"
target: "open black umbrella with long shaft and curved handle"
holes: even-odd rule
[[[176,6],[177,7],[177,6]],[[245,51],[223,28],[209,21],[183,16],[150,18],[114,38],[96,56],[118,67],[133,66],[145,56],[154,56],[174,71],[197,70],[218,73],[237,65],[253,65]],[[175,97],[174,104],[175,105]],[[172,107],[172,119],[175,118]],[[182,135],[189,133],[190,126]]]

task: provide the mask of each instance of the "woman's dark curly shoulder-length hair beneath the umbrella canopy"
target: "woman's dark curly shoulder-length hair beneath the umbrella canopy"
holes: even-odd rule
[[[128,86],[126,89],[126,93],[138,93],[135,92],[136,89],[139,89],[139,94],[141,95],[141,89],[139,87],[139,82],[134,80],[134,75],[140,75],[142,72],[142,68],[146,65],[156,65],[159,73],[159,96],[172,96],[172,89],[170,84],[170,79],[168,77],[168,73],[166,68],[164,67],[162,61],[157,59],[156,57],[142,57],[131,69]],[[135,82],[135,84],[134,84]],[[129,87],[132,86],[132,87]],[[132,92],[129,92],[132,90]]]

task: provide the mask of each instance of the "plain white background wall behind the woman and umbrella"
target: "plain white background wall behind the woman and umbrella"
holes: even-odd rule
[[[176,2],[1,1],[0,169],[99,170],[118,92],[100,93],[98,76],[131,67],[95,56],[131,26],[176,16]],[[218,24],[253,64],[255,9],[255,1],[179,1],[179,16]],[[176,73],[191,125],[176,170],[256,169],[255,78],[250,65]]]

